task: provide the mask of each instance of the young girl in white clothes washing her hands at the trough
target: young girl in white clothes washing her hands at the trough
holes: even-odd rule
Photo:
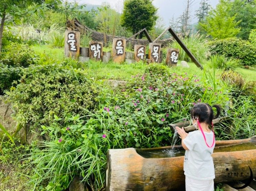
[[[183,167],[186,191],[214,191],[215,173],[211,154],[215,136],[212,120],[219,116],[221,108],[218,105],[213,107],[217,109],[216,116],[213,116],[213,109],[208,103],[197,103],[192,108],[192,123],[199,131],[186,133],[183,127],[176,127],[186,150]]]

